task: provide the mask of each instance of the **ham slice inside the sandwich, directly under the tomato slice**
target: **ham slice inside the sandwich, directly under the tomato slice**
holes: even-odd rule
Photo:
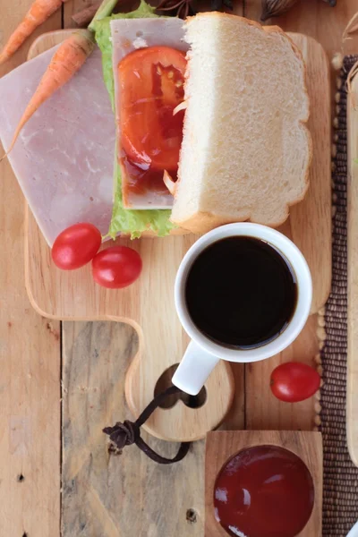
[[[165,46],[184,52],[188,44],[184,41],[183,21],[177,18],[158,19],[116,19],[111,21],[113,44],[113,71],[115,73],[115,109],[117,123],[117,140],[120,139],[120,122],[118,117],[120,91],[118,89],[117,67],[125,55],[143,47]],[[122,190],[126,209],[171,209],[173,196],[169,191],[155,189],[147,192],[133,192],[127,189],[126,169],[121,166]]]

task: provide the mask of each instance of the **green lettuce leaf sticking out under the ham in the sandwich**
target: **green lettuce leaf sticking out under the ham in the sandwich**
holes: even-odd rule
[[[94,22],[93,30],[96,32],[98,47],[102,52],[103,77],[107,86],[112,108],[115,110],[115,79],[112,69],[112,42],[110,21],[114,19],[141,19],[158,17],[154,13],[155,8],[141,0],[141,4],[131,13],[117,13],[111,17],[106,17],[101,21]],[[115,149],[116,151],[116,149]],[[120,166],[115,157],[115,200],[113,206],[112,220],[108,234],[115,238],[115,235],[122,233],[131,234],[132,238],[141,236],[145,230],[154,231],[159,236],[169,234],[175,227],[169,221],[171,211],[167,209],[131,210],[124,209],[122,202],[122,178]]]

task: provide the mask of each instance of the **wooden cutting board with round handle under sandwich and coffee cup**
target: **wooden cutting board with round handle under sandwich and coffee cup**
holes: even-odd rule
[[[71,30],[59,30],[38,38],[30,57],[53,47]],[[330,98],[328,62],[323,48],[314,39],[290,34],[302,50],[307,65],[307,85],[311,98],[309,128],[313,139],[310,189],[305,200],[291,209],[280,230],[303,251],[313,278],[315,313],[326,303],[331,278],[331,192],[330,192]],[[124,290],[95,286],[90,267],[62,272],[51,263],[47,243],[29,209],[25,225],[25,277],[30,301],[46,317],[62,320],[114,320],[134,327],[140,350],[127,373],[125,393],[134,415],[153,397],[159,377],[179,362],[188,343],[174,306],[174,280],[183,254],[196,240],[195,235],[164,239],[141,239],[131,243],[140,251],[143,273],[139,281]],[[121,239],[121,243],[129,241]],[[304,330],[300,359],[312,360],[318,347],[316,331],[309,320]],[[286,355],[294,352],[286,351]],[[274,359],[272,359],[273,361]],[[271,361],[271,363],[272,363]],[[260,376],[260,368],[253,368]],[[171,409],[158,409],[146,424],[147,430],[162,439],[199,439],[217,426],[228,411],[234,392],[227,363],[221,362],[207,383],[207,398],[200,408],[178,402]],[[263,401],[263,403],[265,403]],[[269,407],[269,405],[268,405]]]

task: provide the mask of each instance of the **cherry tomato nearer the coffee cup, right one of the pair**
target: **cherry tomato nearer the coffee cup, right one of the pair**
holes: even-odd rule
[[[92,260],[92,274],[99,286],[121,289],[130,286],[141,274],[141,256],[127,246],[112,246],[99,251]]]

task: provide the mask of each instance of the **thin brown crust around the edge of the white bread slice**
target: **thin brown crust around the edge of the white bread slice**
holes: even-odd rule
[[[310,116],[310,99],[309,99],[309,95],[308,95],[308,91],[307,91],[307,68],[306,68],[306,65],[304,63],[304,60],[303,60],[303,55],[302,55],[302,52],[301,50],[294,44],[294,41],[292,40],[292,38],[290,38],[289,36],[287,36],[286,32],[284,30],[282,30],[281,28],[279,28],[278,26],[266,26],[266,27],[263,27],[260,25],[260,22],[257,22],[257,21],[251,21],[249,19],[245,19],[244,17],[240,17],[239,15],[232,15],[232,14],[229,14],[229,13],[218,13],[218,12],[209,12],[209,13],[198,13],[197,15],[195,15],[195,18],[198,18],[198,17],[201,17],[201,16],[205,16],[205,17],[213,17],[213,18],[228,18],[228,19],[239,19],[240,21],[243,21],[245,24],[248,24],[250,26],[254,26],[255,28],[258,28],[259,30],[261,31],[264,31],[268,34],[270,33],[279,33],[281,34],[282,36],[284,36],[287,41],[290,43],[293,51],[294,51],[294,55],[296,55],[296,57],[300,60],[300,62],[303,64],[303,79],[304,79],[304,92],[307,96],[307,99],[308,99],[308,103],[309,103],[309,106],[307,107],[307,115],[305,118],[303,119],[300,119],[300,120],[297,120],[298,124],[300,124],[302,126],[302,128],[304,129],[304,132],[305,132],[305,135],[306,135],[306,140],[307,140],[307,146],[308,146],[308,159],[307,159],[307,166],[306,166],[306,169],[304,171],[304,176],[303,176],[303,191],[301,193],[300,196],[298,196],[295,200],[292,200],[288,203],[283,203],[283,210],[282,212],[280,213],[280,216],[277,217],[276,220],[274,221],[268,221],[268,220],[265,220],[265,221],[259,221],[258,218],[254,218],[252,219],[251,215],[247,215],[245,217],[243,217],[242,219],[238,219],[237,217],[230,217],[230,215],[226,215],[226,216],[220,216],[220,215],[216,215],[214,213],[211,213],[211,212],[203,212],[203,211],[198,211],[196,214],[192,215],[192,217],[190,218],[187,218],[183,221],[178,221],[178,220],[175,220],[175,224],[177,224],[178,226],[181,226],[189,231],[191,231],[192,233],[206,233],[208,232],[210,229],[213,229],[217,226],[222,226],[224,224],[229,224],[229,223],[233,223],[233,222],[243,222],[243,221],[251,221],[251,222],[255,222],[255,223],[259,223],[259,224],[264,224],[266,226],[272,226],[272,227],[278,227],[278,226],[281,226],[287,219],[288,215],[289,215],[289,208],[294,206],[295,204],[299,203],[300,201],[303,200],[307,190],[308,190],[308,187],[309,187],[309,172],[310,172],[310,166],[311,166],[311,159],[312,159],[312,156],[313,156],[313,148],[312,148],[312,140],[311,140],[311,133],[310,131],[308,130],[307,126],[306,126],[306,123],[309,119],[309,116]],[[194,17],[189,17],[188,19],[193,19]],[[190,73],[186,73],[186,78],[190,76]],[[184,120],[185,121],[185,120]]]

